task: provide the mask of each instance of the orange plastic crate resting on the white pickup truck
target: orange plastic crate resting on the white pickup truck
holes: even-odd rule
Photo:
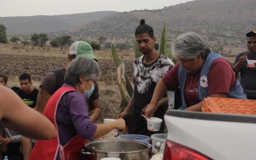
[[[256,100],[207,97],[203,100],[202,111],[256,115]]]

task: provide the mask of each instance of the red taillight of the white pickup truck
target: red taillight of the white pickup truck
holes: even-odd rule
[[[199,153],[198,151],[188,148],[184,145],[177,144],[171,140],[166,140],[163,160],[212,160]]]

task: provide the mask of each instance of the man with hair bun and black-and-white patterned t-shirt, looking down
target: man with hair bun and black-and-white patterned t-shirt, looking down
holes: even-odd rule
[[[147,130],[147,123],[144,117],[141,117],[141,112],[150,102],[153,96],[155,86],[158,81],[164,76],[173,66],[171,59],[168,59],[154,48],[156,37],[154,36],[153,28],[145,24],[145,20],[140,21],[140,25],[135,31],[137,46],[142,56],[134,62],[134,93],[126,109],[117,117],[125,117],[128,133],[143,134],[150,136],[154,133],[164,131],[164,123],[161,124],[159,132]],[[155,110],[154,117],[164,118],[167,109],[168,98],[162,98]]]

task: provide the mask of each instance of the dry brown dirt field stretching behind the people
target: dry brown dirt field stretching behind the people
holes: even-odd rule
[[[101,118],[116,118],[121,112],[119,104],[121,96],[116,80],[116,67],[112,60],[110,51],[94,52],[98,58],[101,69],[99,80]],[[38,88],[40,81],[52,69],[67,64],[68,48],[59,51],[59,48],[47,47],[45,51],[33,46],[21,44],[0,44],[0,73],[9,77],[9,86],[19,86],[18,76],[26,72],[32,75],[33,86]],[[133,81],[134,55],[119,53],[119,57],[125,63],[126,74],[129,80]],[[233,63],[235,55],[227,55],[227,59]]]

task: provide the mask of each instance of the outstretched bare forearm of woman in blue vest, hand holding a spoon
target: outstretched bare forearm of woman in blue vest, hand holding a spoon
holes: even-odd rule
[[[150,103],[142,110],[142,113],[144,112],[146,117],[153,117],[154,112],[159,107],[157,104],[160,99],[165,95],[167,89],[168,87],[161,79],[155,87],[155,91]]]

